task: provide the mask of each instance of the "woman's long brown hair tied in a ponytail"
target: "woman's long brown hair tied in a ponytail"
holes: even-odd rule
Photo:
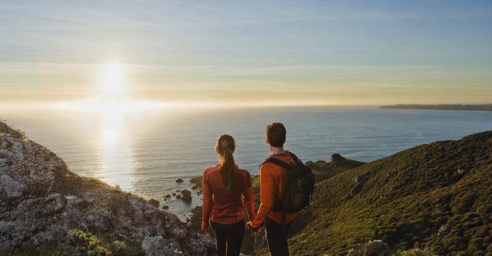
[[[235,163],[233,153],[235,142],[232,136],[223,134],[217,139],[216,152],[220,157],[220,172],[222,182],[228,190],[235,188]]]

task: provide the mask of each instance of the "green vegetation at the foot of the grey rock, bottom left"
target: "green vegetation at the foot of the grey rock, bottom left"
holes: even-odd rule
[[[68,231],[66,241],[50,246],[25,246],[18,253],[1,255],[31,256],[31,255],[62,255],[62,256],[110,256],[110,255],[145,255],[139,240],[118,240],[112,235],[94,235],[78,229]]]

